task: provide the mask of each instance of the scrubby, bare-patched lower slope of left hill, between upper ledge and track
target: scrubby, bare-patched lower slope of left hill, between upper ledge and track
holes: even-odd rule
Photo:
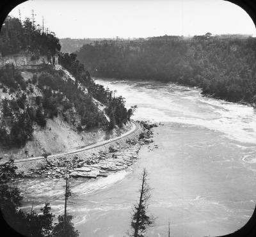
[[[37,72],[6,65],[0,83],[4,159],[70,151],[120,135],[130,126],[108,129],[108,106],[61,65],[45,65]]]

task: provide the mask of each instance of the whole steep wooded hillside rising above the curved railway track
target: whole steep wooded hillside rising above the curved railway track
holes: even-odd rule
[[[126,130],[133,109],[124,98],[34,23],[7,17],[0,32],[0,158],[65,152]]]

